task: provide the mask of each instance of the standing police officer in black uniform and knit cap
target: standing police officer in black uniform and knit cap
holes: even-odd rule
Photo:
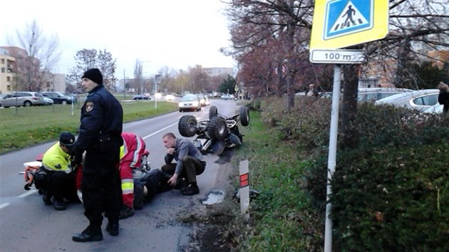
[[[100,241],[103,211],[108,218],[106,231],[118,235],[118,214],[121,206],[120,146],[123,145],[123,108],[103,86],[103,75],[98,68],[87,70],[81,86],[88,97],[81,108],[81,125],[76,144],[75,162],[83,167],[84,215],[89,226],[76,233],[73,241]]]

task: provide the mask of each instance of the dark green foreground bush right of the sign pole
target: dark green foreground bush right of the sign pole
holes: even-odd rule
[[[351,151],[339,163],[331,182],[337,248],[449,250],[447,142]]]

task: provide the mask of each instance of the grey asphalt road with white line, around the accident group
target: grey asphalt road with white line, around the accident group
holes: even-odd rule
[[[212,100],[222,115],[235,115],[234,101]],[[207,119],[209,107],[200,112],[172,112],[148,120],[124,125],[124,131],[135,132],[144,138],[150,152],[149,161],[153,169],[163,164],[165,147],[162,135],[177,131],[177,122],[182,115],[195,115],[198,120]],[[190,246],[192,226],[177,221],[182,211],[189,211],[201,204],[208,192],[217,188],[227,166],[217,164],[215,155],[205,156],[207,168],[198,177],[200,194],[182,196],[172,190],[158,194],[135,216],[120,220],[119,236],[110,236],[103,221],[103,241],[76,243],[71,237],[88,226],[83,215],[82,204],[68,204],[66,211],[56,211],[53,206],[43,204],[42,196],[35,189],[24,190],[24,162],[33,161],[51,147],[49,142],[21,149],[0,156],[0,251],[185,251]],[[237,178],[236,178],[237,179]]]

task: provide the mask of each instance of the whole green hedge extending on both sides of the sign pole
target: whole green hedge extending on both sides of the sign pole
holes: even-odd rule
[[[291,110],[284,104],[259,107],[267,125],[309,154],[299,176],[324,218],[330,100],[299,98]],[[334,251],[449,251],[448,126],[440,115],[358,104],[350,125],[358,146],[338,149],[331,179]]]

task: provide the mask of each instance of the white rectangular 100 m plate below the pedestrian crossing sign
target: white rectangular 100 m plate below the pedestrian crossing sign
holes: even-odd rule
[[[365,61],[363,50],[326,50],[313,49],[310,52],[312,63],[353,64]]]

